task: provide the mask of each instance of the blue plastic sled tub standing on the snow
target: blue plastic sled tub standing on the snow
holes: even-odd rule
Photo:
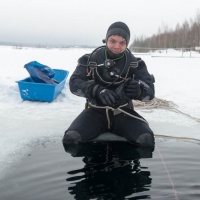
[[[54,69],[54,79],[59,83],[56,85],[46,83],[35,83],[31,77],[16,81],[19,86],[20,95],[23,100],[52,102],[61,93],[69,71]]]

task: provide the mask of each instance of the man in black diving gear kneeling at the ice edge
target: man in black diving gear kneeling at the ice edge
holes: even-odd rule
[[[154,145],[152,130],[132,104],[153,99],[154,85],[144,61],[128,50],[129,40],[128,26],[115,22],[108,28],[106,45],[78,60],[69,86],[87,105],[65,131],[63,143],[84,143],[111,132],[136,145]]]

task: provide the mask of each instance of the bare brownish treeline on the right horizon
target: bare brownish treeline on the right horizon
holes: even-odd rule
[[[179,23],[174,30],[163,25],[158,33],[151,37],[137,37],[130,45],[130,49],[136,52],[147,52],[156,48],[188,48],[195,49],[200,46],[200,11],[197,11],[194,19]]]

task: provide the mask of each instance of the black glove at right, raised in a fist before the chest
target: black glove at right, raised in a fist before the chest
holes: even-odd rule
[[[131,99],[135,99],[140,96],[141,94],[141,87],[138,81],[130,80],[124,87],[124,91],[127,97]]]

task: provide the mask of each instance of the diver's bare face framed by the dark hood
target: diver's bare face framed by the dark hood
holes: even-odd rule
[[[126,40],[119,35],[111,35],[107,40],[107,47],[114,54],[120,54],[126,49]]]

